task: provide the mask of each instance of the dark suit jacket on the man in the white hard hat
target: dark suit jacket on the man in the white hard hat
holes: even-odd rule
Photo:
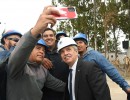
[[[69,100],[68,95],[68,86],[66,86],[64,100]],[[111,100],[106,76],[95,63],[78,60],[75,98],[76,100]]]

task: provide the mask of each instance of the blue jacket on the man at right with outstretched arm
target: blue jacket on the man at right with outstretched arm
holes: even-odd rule
[[[86,53],[83,55],[83,59],[98,64],[102,71],[106,73],[114,82],[116,82],[123,90],[130,87],[124,78],[119,74],[118,70],[100,52],[88,47]]]

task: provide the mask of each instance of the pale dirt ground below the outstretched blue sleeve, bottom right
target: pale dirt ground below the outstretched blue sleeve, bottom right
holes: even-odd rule
[[[130,84],[130,79],[126,80]],[[107,82],[110,87],[112,100],[126,100],[126,93],[111,79],[107,77]]]

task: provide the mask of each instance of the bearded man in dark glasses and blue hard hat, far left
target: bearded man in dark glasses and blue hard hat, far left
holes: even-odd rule
[[[21,37],[21,33],[10,30],[2,35],[0,45],[0,100],[6,100],[6,64],[10,53],[14,50],[14,46]]]

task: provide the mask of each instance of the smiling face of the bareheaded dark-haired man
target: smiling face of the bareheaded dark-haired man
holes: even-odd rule
[[[47,30],[43,33],[43,40],[48,47],[54,47],[56,43],[55,33],[52,30]]]

